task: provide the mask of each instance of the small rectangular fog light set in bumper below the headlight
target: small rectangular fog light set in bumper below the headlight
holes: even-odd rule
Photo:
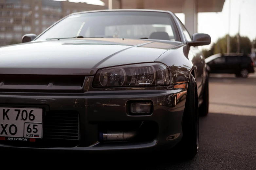
[[[151,102],[134,102],[130,105],[131,114],[151,114],[152,104]]]

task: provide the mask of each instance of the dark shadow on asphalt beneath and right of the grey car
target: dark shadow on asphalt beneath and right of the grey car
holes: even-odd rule
[[[183,161],[175,152],[136,154],[48,155],[45,161],[71,163],[85,169],[215,170],[256,169],[256,117],[209,113],[200,117],[199,152]],[[54,156],[54,159],[51,157]]]

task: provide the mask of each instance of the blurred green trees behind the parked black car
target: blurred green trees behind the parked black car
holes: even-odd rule
[[[210,50],[203,50],[205,58],[218,53],[227,52],[227,38],[228,35],[221,37],[216,43],[212,44]],[[240,37],[240,52],[249,54],[251,53],[251,41],[247,36]],[[256,46],[256,44],[255,44]],[[230,52],[237,52],[237,36],[230,36]]]

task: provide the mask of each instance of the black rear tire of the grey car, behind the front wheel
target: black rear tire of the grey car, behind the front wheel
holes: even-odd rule
[[[203,92],[203,102],[199,107],[199,116],[206,116],[209,113],[209,78],[205,80],[204,92]]]

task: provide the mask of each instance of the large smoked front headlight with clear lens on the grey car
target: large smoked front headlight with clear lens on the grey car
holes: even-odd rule
[[[161,63],[123,65],[98,70],[93,87],[170,85],[169,68]]]

